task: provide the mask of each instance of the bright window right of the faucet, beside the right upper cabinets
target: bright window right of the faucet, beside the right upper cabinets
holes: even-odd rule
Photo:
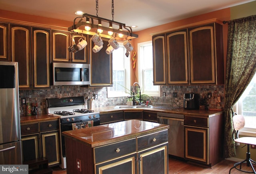
[[[152,41],[138,43],[138,75],[142,93],[160,96],[160,86],[153,85],[153,51]]]

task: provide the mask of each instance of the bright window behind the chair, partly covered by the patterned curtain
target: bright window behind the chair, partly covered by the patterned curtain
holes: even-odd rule
[[[234,112],[241,114],[245,119],[244,132],[256,131],[256,75],[234,106]]]

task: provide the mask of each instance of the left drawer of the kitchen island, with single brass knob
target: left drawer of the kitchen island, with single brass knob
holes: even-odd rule
[[[94,148],[95,164],[136,152],[136,138]]]

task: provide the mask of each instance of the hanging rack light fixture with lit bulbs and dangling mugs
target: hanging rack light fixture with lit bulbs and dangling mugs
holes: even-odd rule
[[[132,33],[131,27],[114,21],[114,0],[112,0],[111,6],[112,20],[98,17],[98,9],[98,0],[96,0],[96,16],[84,13],[82,16],[74,19],[73,26],[69,27],[68,31],[77,34],[93,35],[91,39],[92,42],[94,42],[94,47],[92,48],[94,53],[97,53],[103,47],[103,41],[101,37],[110,38],[108,41],[108,47],[106,49],[107,54],[111,54],[115,49],[119,48],[118,40],[124,41],[123,45],[127,50],[126,56],[128,57],[129,51],[133,50],[129,40],[138,38],[138,35]],[[80,18],[80,20],[76,23],[76,19],[78,18]],[[84,18],[86,19],[86,22],[83,22]],[[94,22],[98,22],[98,24],[95,24]],[[104,22],[103,24],[108,24],[108,26],[102,26],[102,22]],[[84,48],[86,45],[87,43],[84,43],[80,46],[81,48]],[[68,47],[68,50],[70,52],[76,52],[81,49],[77,49],[76,45],[74,44],[73,46]]]

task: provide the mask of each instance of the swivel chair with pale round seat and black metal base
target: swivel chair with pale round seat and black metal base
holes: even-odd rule
[[[254,160],[252,160],[251,157],[250,157],[250,144],[256,145],[256,137],[241,137],[241,138],[238,138],[238,130],[243,129],[244,125],[245,125],[245,120],[244,120],[243,115],[236,115],[236,113],[234,113],[234,115],[233,115],[233,125],[234,125],[234,131],[233,131],[234,141],[246,144],[247,145],[247,152],[246,152],[246,159],[241,161],[241,162],[235,163],[234,166],[232,168],[230,168],[229,174],[230,174],[230,172],[233,168],[235,168],[237,170],[240,170],[242,172],[256,174],[255,169],[253,167],[253,164],[255,165],[256,162]],[[246,166],[248,166],[248,167],[251,166],[253,172],[250,172],[250,171],[248,172],[248,171],[242,170],[242,164],[243,163],[246,163]],[[239,165],[240,165],[240,168],[238,168]]]

